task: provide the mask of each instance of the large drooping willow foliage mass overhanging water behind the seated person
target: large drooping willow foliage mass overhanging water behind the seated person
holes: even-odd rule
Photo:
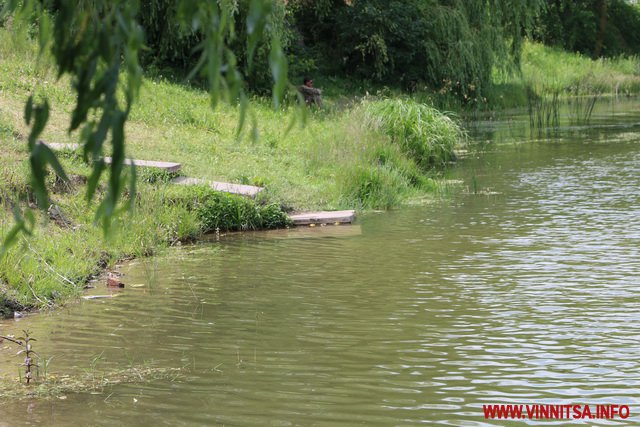
[[[303,43],[318,62],[358,78],[426,85],[475,99],[492,69],[517,62],[541,0],[294,0]]]

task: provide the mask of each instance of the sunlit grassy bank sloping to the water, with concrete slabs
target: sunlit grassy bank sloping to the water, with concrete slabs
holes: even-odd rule
[[[13,224],[14,207],[33,206],[22,119],[32,92],[52,103],[42,139],[76,142],[78,135],[66,131],[74,103],[69,82],[56,81],[46,58],[36,61],[32,43],[0,30],[2,235]],[[128,157],[180,162],[186,176],[266,190],[251,201],[141,173],[133,213],[104,237],[93,224],[95,205],[84,199],[90,168],[79,156],[63,154],[72,182],[49,176],[52,213],[36,212],[33,236],[21,237],[0,261],[5,314],[64,302],[116,260],[149,255],[208,231],[281,227],[283,212],[291,210],[397,206],[436,191],[436,165],[449,161],[464,139],[447,116],[406,99],[344,105],[326,97],[326,108],[310,111],[306,126],[298,121],[288,132],[295,109],[274,111],[267,100],[253,101],[248,122],[258,131],[253,134],[249,126],[238,138],[235,107],[212,111],[205,92],[162,76],[147,78],[126,127]]]

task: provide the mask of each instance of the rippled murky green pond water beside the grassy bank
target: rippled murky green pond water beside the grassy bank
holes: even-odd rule
[[[179,248],[124,266],[117,298],[0,323],[31,330],[50,375],[184,368],[3,398],[0,426],[558,423],[486,403],[629,405],[568,424],[640,425],[640,103],[527,123],[476,123],[443,200]]]

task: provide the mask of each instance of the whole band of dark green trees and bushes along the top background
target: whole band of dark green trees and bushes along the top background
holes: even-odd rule
[[[640,52],[640,6],[624,0],[272,0],[266,38],[249,67],[251,3],[217,3],[220,19],[231,17],[235,29],[225,36],[232,54],[220,67],[237,63],[246,86],[259,94],[271,91],[275,40],[296,84],[306,74],[346,76],[364,87],[426,90],[471,105],[491,99],[495,72],[513,71],[527,34],[592,56]],[[148,47],[141,55],[152,74],[167,68],[181,74],[198,62],[204,36],[180,4],[140,0]]]

